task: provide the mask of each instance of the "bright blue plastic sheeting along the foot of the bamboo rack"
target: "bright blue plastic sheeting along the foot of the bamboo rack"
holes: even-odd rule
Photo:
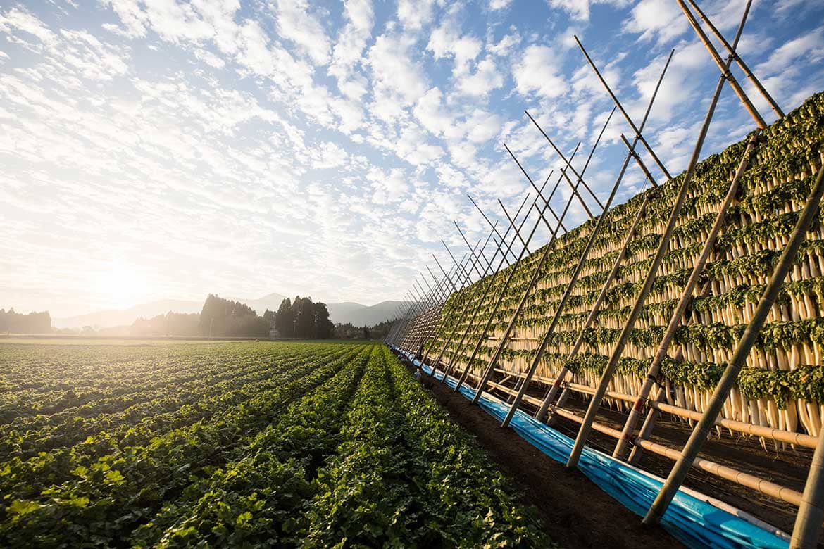
[[[396,347],[395,347],[396,348]],[[400,351],[400,349],[397,349]],[[403,352],[429,374],[432,369],[414,360],[414,355]],[[440,371],[435,377],[443,379]],[[457,380],[450,376],[447,385],[455,388]],[[475,389],[461,385],[461,393],[469,399],[475,397]],[[481,395],[479,405],[491,416],[503,421],[509,407],[503,402]],[[572,451],[574,440],[546,426],[534,417],[518,410],[509,425],[518,435],[541,452],[561,463],[566,463]],[[620,501],[639,516],[644,516],[653,505],[655,496],[661,490],[662,481],[625,463],[584,447],[578,462],[580,469],[603,491]],[[776,533],[759,528],[745,519],[723,509],[699,500],[693,495],[679,491],[667,508],[661,520],[662,526],[688,547],[762,547],[779,549],[789,547],[789,542]]]

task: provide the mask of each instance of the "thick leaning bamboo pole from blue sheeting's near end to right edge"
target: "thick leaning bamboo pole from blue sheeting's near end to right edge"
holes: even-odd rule
[[[727,368],[719,380],[719,384],[715,388],[712,398],[709,399],[704,416],[701,417],[695,426],[695,430],[692,431],[690,440],[687,440],[686,446],[684,446],[684,449],[681,451],[681,457],[672,468],[669,477],[667,477],[667,482],[664,483],[661,491],[658,492],[658,497],[655,498],[652,507],[649,508],[647,515],[644,517],[644,523],[657,523],[667,510],[667,506],[672,501],[672,498],[675,497],[678,488],[684,482],[687,472],[689,472],[692,463],[695,462],[695,458],[704,445],[707,435],[709,435],[709,430],[715,422],[715,418],[719,415],[730,389],[733,388],[733,384],[735,384],[738,372],[741,371],[746,363],[747,355],[756,342],[756,337],[758,337],[758,333],[765,323],[767,314],[770,313],[770,309],[772,309],[775,303],[775,298],[798,254],[798,248],[805,238],[805,233],[810,229],[812,221],[814,221],[817,215],[822,194],[824,194],[824,179],[822,179],[822,175],[824,175],[824,167],[818,170],[815,184],[812,185],[812,191],[807,199],[807,203],[804,204],[801,215],[798,216],[798,222],[794,227],[792,235],[789,237],[789,242],[784,247],[784,252],[782,252],[781,258],[775,266],[775,270],[764,290],[764,294],[761,295],[761,300],[758,302],[756,312],[753,314],[747,330],[742,335],[741,341],[738,342],[732,360],[729,361]],[[820,527],[821,524],[819,523],[818,526]]]

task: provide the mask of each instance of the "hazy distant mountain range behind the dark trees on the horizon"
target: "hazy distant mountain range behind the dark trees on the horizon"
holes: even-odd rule
[[[245,299],[238,297],[227,297],[226,299],[240,301],[255,309],[257,314],[264,314],[266,309],[278,310],[280,302],[286,298],[285,295],[271,293],[257,299]],[[333,323],[352,323],[355,326],[373,326],[384,320],[395,317],[395,310],[400,301],[382,301],[376,305],[361,305],[352,301],[343,303],[328,303],[329,318]],[[114,326],[127,326],[136,319],[150,319],[158,314],[174,313],[199,313],[203,308],[203,301],[191,300],[158,300],[141,305],[134,305],[129,309],[107,309],[89,314],[67,317],[63,319],[52,319],[52,326],[55,328],[81,328],[91,326],[93,328],[112,328]]]

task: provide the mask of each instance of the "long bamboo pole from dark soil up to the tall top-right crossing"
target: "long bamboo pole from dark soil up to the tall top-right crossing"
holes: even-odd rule
[[[592,395],[592,400],[589,402],[587,413],[583,418],[581,427],[578,430],[578,436],[575,438],[575,444],[573,445],[572,452],[569,454],[569,459],[567,460],[568,468],[575,468],[578,466],[578,458],[581,457],[583,446],[587,443],[589,433],[592,430],[592,422],[595,421],[595,416],[598,413],[598,408],[601,406],[601,401],[604,398],[604,393],[606,393],[606,388],[610,384],[612,375],[615,374],[618,361],[624,352],[627,339],[630,337],[630,333],[635,326],[635,321],[641,313],[641,309],[644,308],[644,302],[647,300],[649,291],[652,290],[653,281],[655,281],[658,268],[661,266],[664,255],[667,253],[667,247],[669,245],[670,238],[672,237],[672,231],[675,229],[678,216],[681,215],[681,208],[684,206],[686,193],[690,190],[692,177],[695,174],[695,165],[698,164],[701,148],[704,147],[707,131],[709,130],[709,123],[712,122],[713,114],[715,112],[715,105],[718,104],[719,96],[721,95],[721,90],[723,89],[723,82],[724,78],[721,77],[719,78],[718,85],[715,86],[715,92],[712,100],[709,102],[709,109],[707,110],[704,123],[701,126],[698,141],[695,143],[695,149],[692,151],[690,164],[686,168],[686,174],[684,174],[684,179],[681,182],[681,188],[678,189],[676,201],[672,206],[672,212],[670,212],[667,227],[664,230],[664,234],[661,236],[658,249],[653,257],[653,263],[650,265],[647,276],[644,278],[644,285],[641,286],[641,291],[639,292],[638,298],[635,300],[635,304],[630,311],[630,318],[627,319],[624,329],[621,331],[620,337],[618,337],[618,341],[612,349],[610,358],[606,362],[606,367],[601,375],[601,381],[595,389],[595,394]]]

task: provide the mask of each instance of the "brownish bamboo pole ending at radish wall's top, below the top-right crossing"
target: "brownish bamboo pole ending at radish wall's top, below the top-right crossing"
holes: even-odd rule
[[[623,429],[624,436],[618,440],[615,451],[612,453],[613,458],[623,458],[627,442],[630,435],[634,433],[635,426],[641,416],[641,409],[644,405],[644,401],[647,400],[649,392],[653,388],[653,383],[656,379],[658,379],[658,376],[661,375],[661,365],[664,359],[667,358],[667,351],[669,351],[670,343],[672,343],[672,339],[675,337],[675,333],[681,325],[681,319],[684,317],[684,313],[686,313],[686,308],[692,303],[692,292],[698,284],[701,273],[704,272],[704,268],[709,260],[709,254],[714,252],[716,238],[718,237],[719,231],[726,220],[727,210],[733,204],[733,200],[738,192],[738,182],[747,170],[750,156],[756,149],[759,133],[760,132],[753,133],[749,142],[747,142],[747,148],[744,150],[744,155],[742,156],[741,162],[738,164],[738,169],[733,176],[733,181],[727,189],[727,195],[724,197],[721,207],[719,207],[719,212],[715,216],[713,226],[709,229],[709,234],[706,236],[704,245],[698,256],[698,260],[692,268],[690,278],[686,281],[686,285],[681,291],[681,299],[678,300],[678,305],[676,305],[675,310],[672,312],[672,317],[667,325],[667,330],[664,332],[661,343],[658,345],[658,351],[655,353],[653,362],[649,365],[647,377],[644,379],[644,384],[641,387],[638,400],[635,402],[634,407],[630,410],[630,415],[626,418]]]

